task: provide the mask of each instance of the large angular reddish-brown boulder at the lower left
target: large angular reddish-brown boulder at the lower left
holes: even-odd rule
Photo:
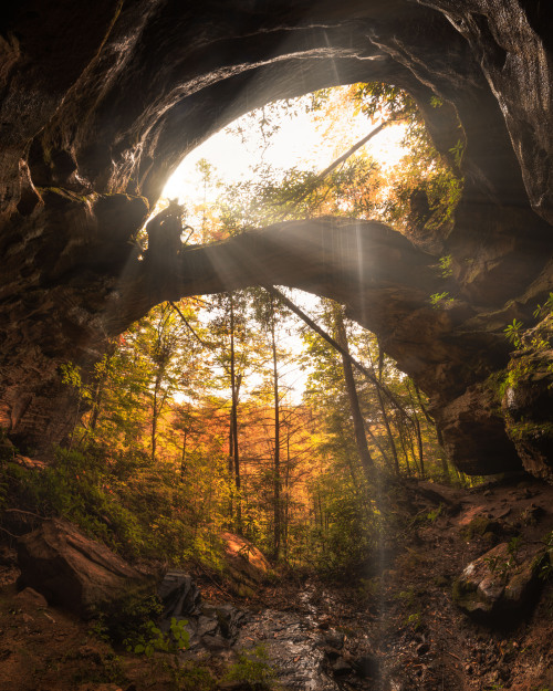
[[[18,541],[21,576],[49,604],[90,618],[129,593],[144,594],[152,582],[105,545],[67,521],[51,519]]]

